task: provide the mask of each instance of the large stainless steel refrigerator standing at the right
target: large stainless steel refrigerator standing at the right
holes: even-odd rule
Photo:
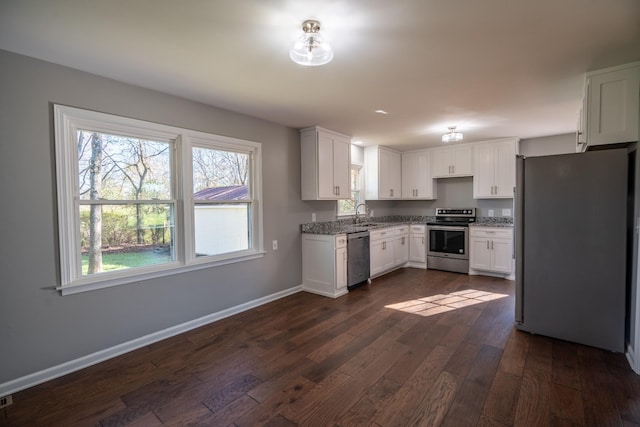
[[[518,157],[516,323],[623,352],[627,150]]]

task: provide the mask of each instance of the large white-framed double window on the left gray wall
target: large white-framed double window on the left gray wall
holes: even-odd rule
[[[262,256],[259,143],[54,115],[63,295]]]

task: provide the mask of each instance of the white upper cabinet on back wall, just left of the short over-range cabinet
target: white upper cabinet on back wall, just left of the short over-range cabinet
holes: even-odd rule
[[[407,151],[402,153],[402,198],[436,198],[436,186],[431,176],[431,151]]]

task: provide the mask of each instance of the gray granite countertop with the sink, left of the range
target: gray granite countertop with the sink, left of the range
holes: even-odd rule
[[[310,222],[308,224],[302,224],[300,230],[307,234],[344,234],[344,233],[357,233],[359,231],[369,231],[380,228],[394,227],[396,225],[410,225],[410,224],[426,224],[429,221],[433,221],[431,216],[386,216],[368,218],[360,224],[354,224],[353,218],[341,219],[337,221],[329,222]]]

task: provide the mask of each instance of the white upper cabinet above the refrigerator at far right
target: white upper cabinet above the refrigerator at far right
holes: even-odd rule
[[[640,62],[587,73],[582,108],[586,135],[578,134],[578,141],[586,142],[583,149],[638,141]]]

